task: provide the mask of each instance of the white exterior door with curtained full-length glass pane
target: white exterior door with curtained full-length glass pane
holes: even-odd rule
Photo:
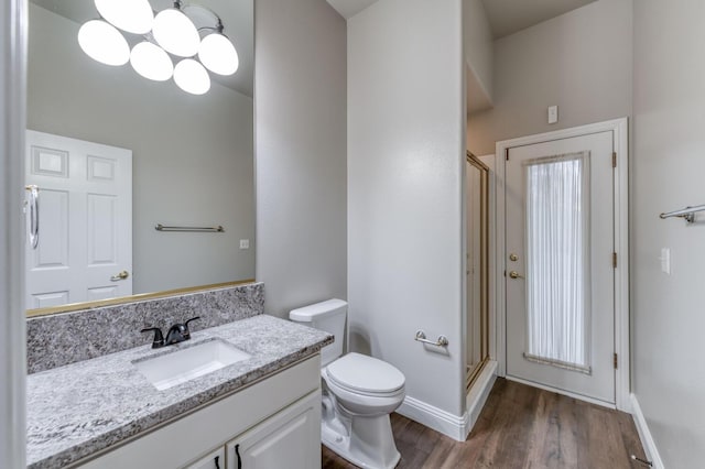
[[[615,403],[611,131],[506,163],[507,375]]]

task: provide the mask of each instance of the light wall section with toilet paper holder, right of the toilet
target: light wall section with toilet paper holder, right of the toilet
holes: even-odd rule
[[[465,361],[462,43],[460,0],[380,0],[348,20],[351,348],[397,366],[409,397],[454,416]],[[447,353],[414,341],[416,329],[446,335]]]

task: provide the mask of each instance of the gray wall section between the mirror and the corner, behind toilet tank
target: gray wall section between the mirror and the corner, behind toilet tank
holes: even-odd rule
[[[257,279],[265,312],[347,298],[346,26],[325,0],[258,0]]]

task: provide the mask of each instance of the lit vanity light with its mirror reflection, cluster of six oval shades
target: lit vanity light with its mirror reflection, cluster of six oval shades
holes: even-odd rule
[[[95,4],[100,18],[80,28],[78,44],[102,64],[130,62],[144,78],[165,81],[173,77],[193,95],[210,89],[207,70],[227,76],[238,69],[238,53],[223,33],[223,21],[205,7],[177,0],[173,8],[153,12],[148,0],[95,0]],[[204,18],[215,25],[200,25]]]

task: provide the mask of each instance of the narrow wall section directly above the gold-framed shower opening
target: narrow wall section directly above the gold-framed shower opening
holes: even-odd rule
[[[494,39],[481,0],[463,0],[468,112],[492,105]]]

